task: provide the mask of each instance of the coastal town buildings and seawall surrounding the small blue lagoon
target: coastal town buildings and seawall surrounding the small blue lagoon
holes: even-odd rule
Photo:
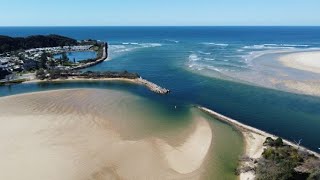
[[[85,61],[75,61],[68,58],[70,52],[94,51],[97,57]],[[108,44],[96,40],[77,41],[72,46],[39,47],[19,49],[0,54],[0,81],[23,78],[24,74],[33,73],[39,69],[72,70],[89,67],[95,61],[107,58]],[[60,58],[56,58],[60,55]],[[22,75],[22,76],[18,76]]]

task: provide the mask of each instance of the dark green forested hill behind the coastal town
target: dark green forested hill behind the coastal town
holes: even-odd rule
[[[0,36],[0,54],[5,52],[26,50],[32,48],[72,46],[77,44],[78,42],[75,39],[59,35],[37,35],[29,36],[26,38]]]

